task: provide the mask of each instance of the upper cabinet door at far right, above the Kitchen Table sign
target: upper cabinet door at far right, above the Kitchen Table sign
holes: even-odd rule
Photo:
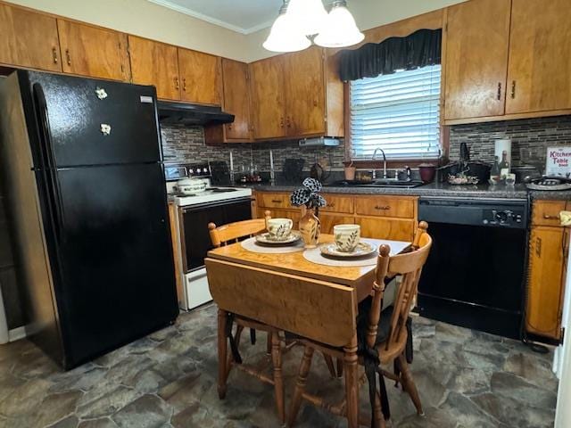
[[[571,109],[569,0],[513,0],[507,113]]]

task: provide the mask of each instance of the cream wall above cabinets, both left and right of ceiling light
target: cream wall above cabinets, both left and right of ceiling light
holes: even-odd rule
[[[269,29],[246,36],[146,0],[9,1],[238,61],[252,62],[275,54],[266,51],[261,45]],[[349,0],[348,4],[359,28],[372,29],[463,1],[465,0]]]

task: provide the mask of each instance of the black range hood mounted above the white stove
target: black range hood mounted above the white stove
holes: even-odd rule
[[[157,107],[161,124],[212,126],[234,122],[233,114],[211,105],[159,101]]]

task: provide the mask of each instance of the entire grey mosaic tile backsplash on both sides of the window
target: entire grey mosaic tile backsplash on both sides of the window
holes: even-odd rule
[[[277,141],[254,144],[206,145],[202,127],[169,125],[161,127],[162,149],[167,163],[196,163],[227,161],[230,150],[236,172],[240,167],[256,165],[260,171],[269,171],[269,150],[274,155],[274,167],[281,171],[285,159],[302,158],[304,170],[309,171],[315,161],[326,158],[332,170],[343,170],[345,148],[343,140],[337,147],[301,148],[294,141]],[[512,161],[519,163],[519,149],[530,147],[544,158],[546,148],[552,145],[571,145],[571,116],[537,119],[506,120],[467,125],[455,125],[450,130],[450,159],[459,159],[459,145],[468,143],[470,157],[478,161],[493,161],[494,141],[510,138]]]

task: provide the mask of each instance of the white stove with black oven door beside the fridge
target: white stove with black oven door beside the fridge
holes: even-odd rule
[[[211,250],[210,222],[224,225],[252,218],[252,189],[213,187],[208,164],[165,166],[167,193],[177,207],[171,216],[176,246],[178,303],[190,310],[212,300],[204,268],[204,258]],[[194,194],[176,193],[177,181],[199,177],[207,182],[206,190]]]

